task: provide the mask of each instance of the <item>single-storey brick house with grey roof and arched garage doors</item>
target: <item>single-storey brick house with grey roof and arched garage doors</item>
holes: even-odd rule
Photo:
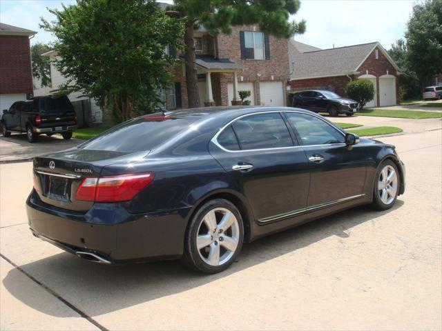
[[[327,89],[344,96],[349,81],[367,79],[375,90],[367,107],[398,103],[400,70],[378,42],[320,50],[291,39],[289,58],[293,91]]]

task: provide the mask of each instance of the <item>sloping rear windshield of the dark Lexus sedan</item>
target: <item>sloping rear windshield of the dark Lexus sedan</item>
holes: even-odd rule
[[[82,148],[116,152],[153,150],[189,128],[194,122],[195,119],[138,117],[100,134]]]

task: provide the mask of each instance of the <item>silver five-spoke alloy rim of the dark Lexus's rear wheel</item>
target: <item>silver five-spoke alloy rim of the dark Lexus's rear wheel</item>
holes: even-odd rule
[[[238,219],[226,208],[214,208],[204,215],[197,236],[197,250],[205,263],[213,266],[227,263],[238,248]]]

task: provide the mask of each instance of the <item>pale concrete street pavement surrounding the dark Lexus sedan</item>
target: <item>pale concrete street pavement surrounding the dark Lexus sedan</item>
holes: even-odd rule
[[[442,130],[382,140],[407,167],[392,210],[260,239],[211,276],[177,261],[106,267],[35,239],[32,165],[0,165],[0,329],[441,330]]]

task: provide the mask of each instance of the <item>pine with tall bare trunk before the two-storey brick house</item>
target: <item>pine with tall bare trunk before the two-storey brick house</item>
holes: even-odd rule
[[[186,85],[189,107],[199,107],[195,66],[195,28],[202,25],[211,35],[231,33],[231,26],[258,24],[260,30],[276,37],[289,38],[305,31],[305,21],[289,22],[296,14],[299,0],[174,0],[168,14],[184,19]]]

